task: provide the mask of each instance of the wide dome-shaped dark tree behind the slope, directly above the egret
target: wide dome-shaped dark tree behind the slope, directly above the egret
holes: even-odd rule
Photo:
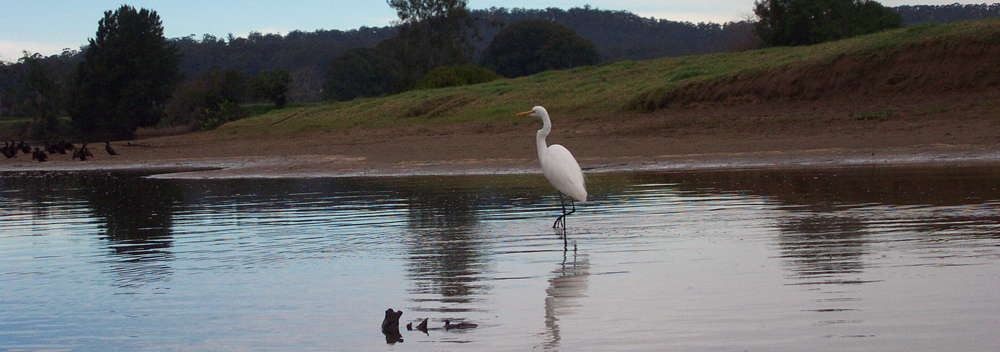
[[[483,65],[506,77],[598,62],[600,56],[593,43],[545,20],[524,20],[507,26],[483,53]]]

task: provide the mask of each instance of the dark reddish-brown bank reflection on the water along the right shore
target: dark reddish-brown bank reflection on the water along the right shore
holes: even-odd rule
[[[834,209],[824,207],[846,210],[872,203],[951,206],[997,200],[1000,199],[997,177],[1000,167],[868,166],[674,173],[661,174],[658,180],[676,182],[679,188],[690,192],[745,193],[807,210]]]

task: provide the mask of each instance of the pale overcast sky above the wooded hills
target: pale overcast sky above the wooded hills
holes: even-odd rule
[[[14,61],[24,50],[54,54],[77,49],[97,31],[97,21],[122,0],[0,0],[0,60]],[[886,6],[949,4],[954,0],[885,0]],[[981,1],[958,1],[979,3]],[[348,30],[390,24],[396,14],[382,0],[140,0],[135,7],[156,10],[168,38],[204,33],[224,37],[251,31],[287,33],[291,30]],[[604,10],[626,10],[643,17],[674,21],[726,22],[753,14],[753,0],[469,0],[473,9],[522,7],[567,9],[590,5]]]

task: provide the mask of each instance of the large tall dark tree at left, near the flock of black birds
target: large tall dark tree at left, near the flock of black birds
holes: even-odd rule
[[[180,57],[156,11],[128,5],[105,11],[83,56],[69,109],[80,133],[134,138],[136,128],[160,121]]]

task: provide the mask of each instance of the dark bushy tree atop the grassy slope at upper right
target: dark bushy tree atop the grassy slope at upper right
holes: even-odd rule
[[[808,45],[899,27],[898,14],[871,0],[755,0],[764,44]]]

